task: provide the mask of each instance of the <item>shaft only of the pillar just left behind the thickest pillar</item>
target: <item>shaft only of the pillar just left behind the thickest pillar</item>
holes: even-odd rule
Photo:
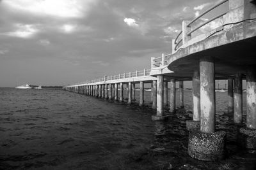
[[[192,96],[193,96],[193,120],[200,122],[200,74],[199,69],[195,69],[192,78]]]

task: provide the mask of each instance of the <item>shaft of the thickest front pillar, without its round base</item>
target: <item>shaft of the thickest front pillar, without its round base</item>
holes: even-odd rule
[[[200,131],[215,132],[214,59],[200,59]]]

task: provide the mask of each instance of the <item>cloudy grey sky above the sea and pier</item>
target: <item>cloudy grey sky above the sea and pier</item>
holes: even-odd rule
[[[192,20],[216,3],[0,0],[0,87],[68,85],[149,69],[150,57],[171,53],[182,20]]]

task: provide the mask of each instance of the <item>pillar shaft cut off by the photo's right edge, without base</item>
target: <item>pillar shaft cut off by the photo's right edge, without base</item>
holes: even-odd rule
[[[250,129],[256,129],[256,69],[255,67],[248,67],[248,69],[246,70],[246,126]]]

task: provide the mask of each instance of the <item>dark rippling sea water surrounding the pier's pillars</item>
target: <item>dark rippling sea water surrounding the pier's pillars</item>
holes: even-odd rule
[[[227,156],[217,162],[187,154],[191,92],[184,91],[184,110],[177,91],[177,113],[166,108],[166,122],[152,122],[151,94],[143,107],[138,94],[128,106],[63,90],[1,88],[0,169],[256,169],[255,155],[237,147],[227,92],[216,93],[216,127],[227,131]]]

